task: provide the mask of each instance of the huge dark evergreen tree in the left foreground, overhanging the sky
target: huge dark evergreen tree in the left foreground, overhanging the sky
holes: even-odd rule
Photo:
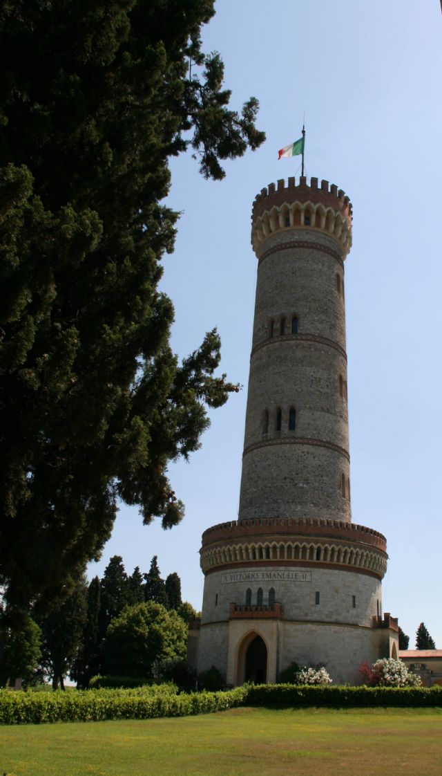
[[[158,291],[178,213],[168,159],[202,175],[264,140],[230,109],[200,30],[213,0],[35,0],[0,15],[0,583],[47,611],[112,531],[118,499],[164,528],[188,458],[237,386],[219,336],[181,364]],[[44,559],[44,563],[43,563]]]

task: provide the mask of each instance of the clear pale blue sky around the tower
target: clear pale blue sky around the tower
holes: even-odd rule
[[[232,105],[260,102],[259,151],[204,181],[189,156],[174,160],[169,202],[181,211],[162,287],[175,305],[180,356],[219,328],[222,370],[243,384],[212,412],[190,463],[170,466],[186,504],[170,532],[143,527],[124,506],[102,560],[123,556],[128,573],[155,554],[177,571],[183,596],[201,608],[202,531],[237,518],[257,261],[250,208],[260,189],[299,175],[299,158],[277,161],[300,136],[306,173],[336,183],[354,206],[346,262],[347,352],[353,521],[387,537],[384,611],[410,646],[421,621],[442,648],[442,268],[439,0],[218,0],[206,51],[226,66]]]

